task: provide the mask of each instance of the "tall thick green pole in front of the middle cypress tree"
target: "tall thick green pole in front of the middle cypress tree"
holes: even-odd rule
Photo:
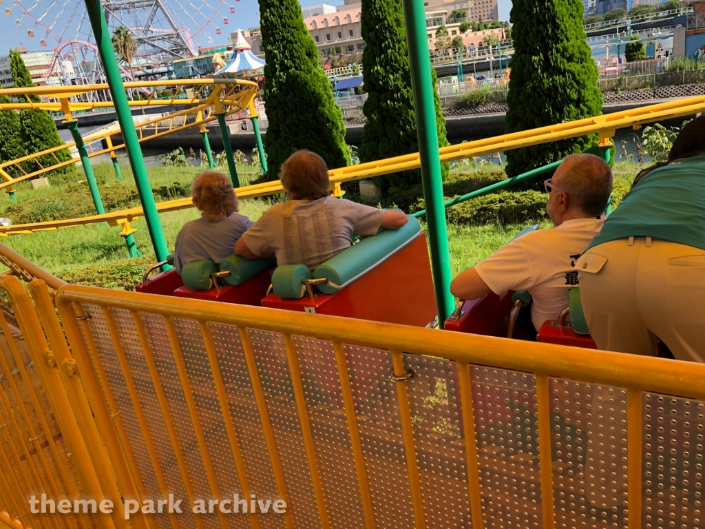
[[[434,102],[435,87],[431,83],[426,13],[424,13],[424,3],[420,0],[403,0],[403,7],[421,156],[421,178],[431,246],[431,269],[434,273],[439,324],[443,329],[443,322],[453,312],[454,303],[453,296],[450,295],[450,250],[448,249],[446,209],[443,207],[441,157]]]

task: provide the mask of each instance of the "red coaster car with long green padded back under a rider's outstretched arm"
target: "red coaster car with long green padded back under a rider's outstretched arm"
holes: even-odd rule
[[[278,267],[263,307],[424,327],[436,316],[433,279],[419,221],[374,237],[327,260],[312,272]]]

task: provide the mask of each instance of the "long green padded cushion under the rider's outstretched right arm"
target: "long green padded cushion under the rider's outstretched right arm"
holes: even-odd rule
[[[314,278],[325,277],[331,283],[345,286],[379,265],[386,257],[413,241],[421,231],[421,224],[415,217],[397,230],[380,230],[374,237],[368,237],[347,250],[322,263],[314,272]],[[318,286],[324,294],[336,293],[340,288],[323,284]]]

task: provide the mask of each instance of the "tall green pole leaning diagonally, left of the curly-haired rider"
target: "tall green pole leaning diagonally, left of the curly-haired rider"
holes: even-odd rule
[[[103,7],[100,0],[85,0],[85,4],[100,59],[103,63],[105,77],[108,81],[110,95],[113,98],[115,113],[123,133],[125,149],[128,152],[130,166],[132,166],[133,174],[135,175],[137,193],[140,195],[142,209],[145,212],[145,220],[147,221],[149,236],[152,238],[154,254],[157,256],[157,261],[164,261],[169,254],[169,250],[166,245],[166,238],[164,238],[164,230],[161,228],[157,204],[154,202],[154,195],[152,195],[152,186],[149,184],[147,166],[145,166],[145,158],[142,156],[140,141],[135,131],[135,123],[133,122],[130,104],[125,93],[120,67],[113,51],[110,31],[103,15]],[[171,267],[165,265],[163,269],[167,268]]]

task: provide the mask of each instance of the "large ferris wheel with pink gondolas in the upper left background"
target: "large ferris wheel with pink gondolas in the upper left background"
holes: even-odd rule
[[[235,16],[235,6],[226,0],[103,0],[102,4],[111,35],[122,26],[137,45],[132,63],[121,63],[127,80],[166,73],[174,59],[225,42],[220,35],[228,35],[228,16]],[[61,72],[66,84],[104,80],[83,0],[12,0],[5,14],[18,27],[27,28],[27,37],[38,41],[32,44],[54,51],[45,77]]]

